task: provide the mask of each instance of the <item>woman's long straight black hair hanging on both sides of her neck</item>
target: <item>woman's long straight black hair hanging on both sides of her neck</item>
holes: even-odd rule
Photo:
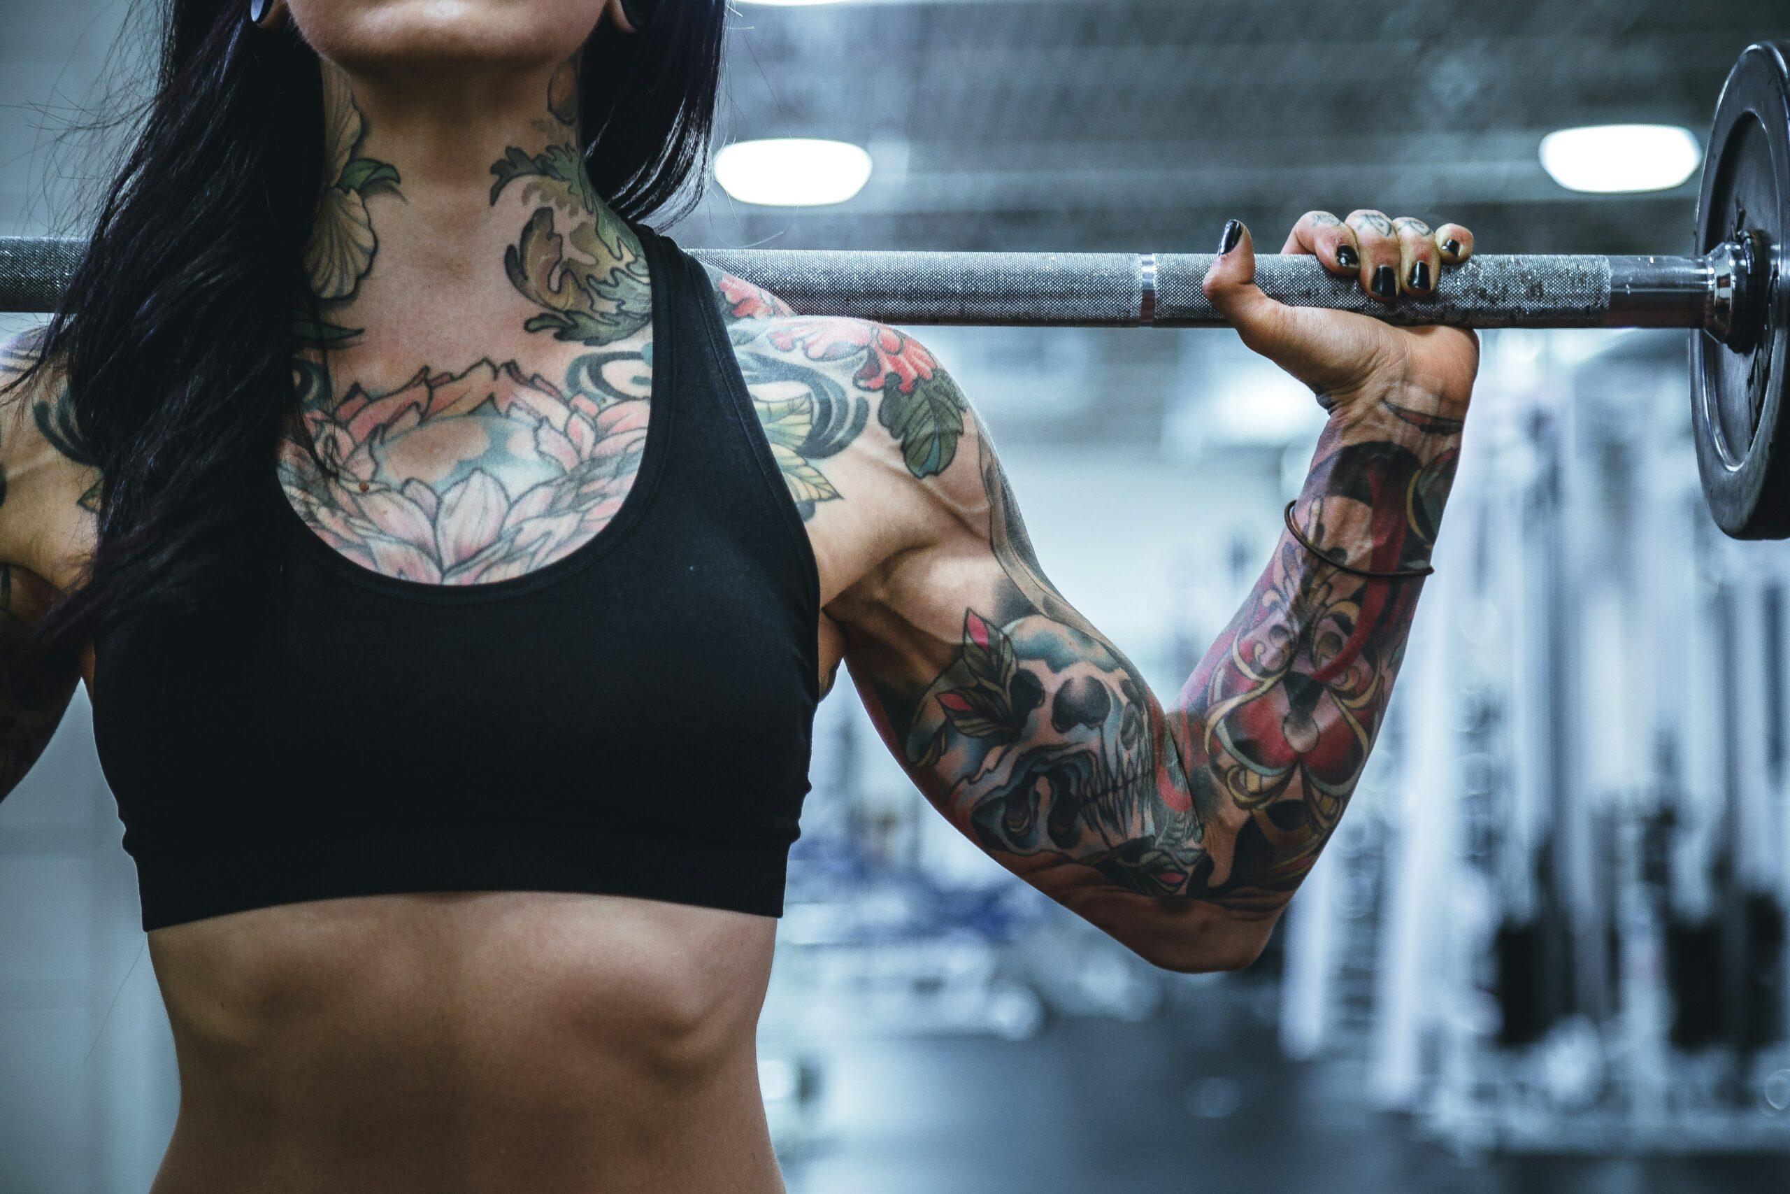
[[[249,25],[247,7],[161,0],[156,95],[38,342],[32,372],[66,381],[64,437],[102,474],[97,548],[38,625],[41,652],[192,609],[261,559],[267,523],[251,514],[295,417],[294,304],[324,149],[317,54],[290,23]],[[723,21],[723,0],[671,0],[643,32],[605,23],[585,45],[580,136],[618,215],[666,222],[695,204]]]

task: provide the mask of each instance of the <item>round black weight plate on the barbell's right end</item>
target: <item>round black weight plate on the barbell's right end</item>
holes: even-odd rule
[[[1786,301],[1777,285],[1779,247],[1790,238],[1790,41],[1749,47],[1715,106],[1697,252],[1760,235],[1765,331],[1736,353],[1692,333],[1692,422],[1702,492],[1717,525],[1735,539],[1790,537],[1790,428],[1783,417]]]

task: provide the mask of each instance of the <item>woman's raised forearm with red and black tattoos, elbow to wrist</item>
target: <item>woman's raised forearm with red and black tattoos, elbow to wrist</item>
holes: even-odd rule
[[[1332,410],[1292,508],[1325,557],[1364,571],[1428,562],[1461,444],[1439,406],[1398,388]],[[1253,915],[1292,897],[1360,780],[1421,587],[1357,576],[1282,533],[1165,711],[1199,825],[1187,897]]]

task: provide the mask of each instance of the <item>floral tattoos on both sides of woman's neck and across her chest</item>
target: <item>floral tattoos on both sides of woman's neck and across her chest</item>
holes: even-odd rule
[[[492,206],[512,186],[533,204],[505,252],[512,286],[537,308],[524,328],[591,349],[564,380],[487,358],[338,394],[326,356],[294,362],[299,428],[281,442],[283,487],[317,537],[363,567],[440,585],[521,576],[589,542],[634,485],[650,422],[650,277],[639,238],[584,170],[575,81],[567,63],[550,82],[535,125],[544,149],[510,145],[490,166]],[[317,299],[347,306],[378,261],[365,195],[396,190],[399,174],[362,156],[365,120],[328,68],[326,100],[335,181],[306,269]],[[313,349],[358,337],[333,322],[304,331]]]

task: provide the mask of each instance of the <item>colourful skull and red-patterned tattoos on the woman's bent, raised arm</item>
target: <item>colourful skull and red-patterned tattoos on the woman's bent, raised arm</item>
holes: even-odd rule
[[[1391,397],[1373,419],[1334,419],[1296,507],[1301,530],[1357,567],[1421,564],[1459,430]],[[906,761],[965,832],[1027,872],[1079,865],[1138,895],[1278,909],[1360,780],[1421,582],[1353,576],[1283,535],[1162,709],[1045,580],[979,440],[1006,584],[965,614],[924,696],[879,691]]]

